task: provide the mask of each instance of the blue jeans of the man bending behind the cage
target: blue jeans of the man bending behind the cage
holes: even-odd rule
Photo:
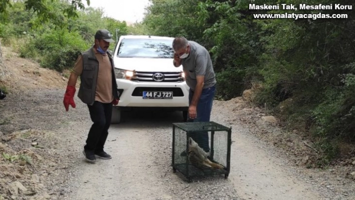
[[[213,99],[215,98],[216,86],[212,86],[210,88],[205,88],[202,90],[202,94],[200,100],[197,104],[196,112],[197,118],[193,119],[194,122],[209,122]],[[194,91],[190,89],[189,92],[189,105],[191,105],[192,98],[194,96]],[[188,117],[189,119],[190,117]],[[201,131],[194,133],[192,136],[193,140],[195,140],[201,148],[203,148],[206,152],[210,151],[209,137],[207,131]]]

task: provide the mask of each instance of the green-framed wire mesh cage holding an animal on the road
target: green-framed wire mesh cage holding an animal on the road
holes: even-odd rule
[[[228,178],[232,129],[216,122],[172,124],[172,169],[189,181],[195,176]]]

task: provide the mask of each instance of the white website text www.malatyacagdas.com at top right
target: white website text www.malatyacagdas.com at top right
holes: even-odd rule
[[[347,19],[347,14],[253,14],[254,19]]]

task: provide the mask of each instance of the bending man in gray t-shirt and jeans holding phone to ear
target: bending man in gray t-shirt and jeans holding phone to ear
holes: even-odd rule
[[[199,122],[210,121],[213,99],[216,91],[216,75],[210,53],[194,41],[177,37],[172,42],[173,64],[183,65],[186,83],[190,87],[188,119]],[[210,151],[208,132],[192,136],[206,152]]]

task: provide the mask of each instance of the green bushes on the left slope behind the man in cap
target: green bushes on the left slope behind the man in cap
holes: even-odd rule
[[[98,29],[107,29],[117,38],[128,33],[125,22],[103,17],[101,9],[84,9],[78,2],[11,2],[11,7],[0,14],[3,44],[16,46],[20,56],[40,62],[42,67],[63,71],[72,68],[78,54],[94,44]],[[30,8],[30,4],[34,6]],[[84,10],[76,11],[74,7]],[[109,49],[114,46],[111,44]]]

